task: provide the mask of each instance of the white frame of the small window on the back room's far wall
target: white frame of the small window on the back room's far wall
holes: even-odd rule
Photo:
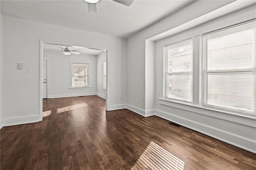
[[[81,87],[73,87],[72,84],[72,79],[73,79],[73,70],[74,70],[74,65],[73,64],[88,64],[88,86],[81,86]],[[74,60],[70,60],[70,90],[76,90],[76,89],[92,89],[91,86],[91,62],[90,61],[74,61]]]

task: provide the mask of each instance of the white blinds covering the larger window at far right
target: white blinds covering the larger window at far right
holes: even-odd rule
[[[202,36],[204,106],[256,114],[255,24]]]

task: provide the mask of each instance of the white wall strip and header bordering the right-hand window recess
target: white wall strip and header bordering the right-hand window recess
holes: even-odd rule
[[[166,32],[194,18],[220,8],[232,1],[195,1],[160,22],[127,39],[127,104],[128,108],[145,116],[145,96],[148,95],[145,81],[146,40]],[[188,15],[189,14],[189,15]],[[149,94],[149,96],[152,96]],[[154,99],[147,99],[150,102]]]

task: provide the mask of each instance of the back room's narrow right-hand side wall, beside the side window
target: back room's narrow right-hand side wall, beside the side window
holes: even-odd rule
[[[103,87],[103,62],[106,61],[106,52],[97,55],[97,95],[106,99],[106,89]]]

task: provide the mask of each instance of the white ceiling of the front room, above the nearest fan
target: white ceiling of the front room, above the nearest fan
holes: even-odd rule
[[[88,14],[84,0],[1,0],[1,13],[46,24],[128,38],[190,4],[189,0],[134,0],[124,6],[112,0],[97,3]]]

